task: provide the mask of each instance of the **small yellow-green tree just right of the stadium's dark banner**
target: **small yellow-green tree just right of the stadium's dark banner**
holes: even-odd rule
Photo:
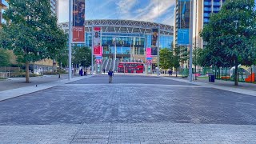
[[[170,69],[173,67],[173,52],[170,49],[164,48],[159,51],[160,55],[160,66],[162,69]]]

